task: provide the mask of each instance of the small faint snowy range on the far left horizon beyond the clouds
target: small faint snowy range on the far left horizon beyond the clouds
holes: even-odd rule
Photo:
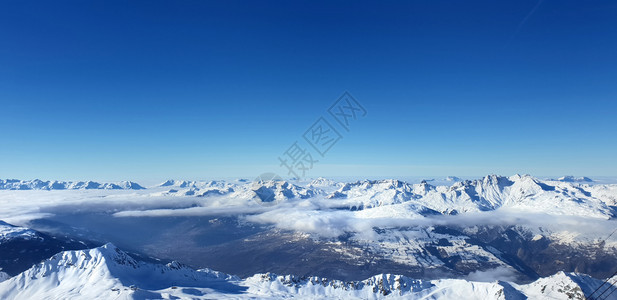
[[[0,190],[141,190],[141,185],[132,181],[121,181],[116,183],[98,183],[94,181],[43,181],[0,179]]]

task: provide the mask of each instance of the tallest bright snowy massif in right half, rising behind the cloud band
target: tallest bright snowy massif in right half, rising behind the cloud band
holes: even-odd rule
[[[529,175],[489,175],[458,181],[452,186],[433,186],[426,181],[409,184],[399,180],[365,180],[346,183],[327,198],[341,200],[353,209],[409,202],[421,210],[440,214],[507,208],[609,219],[614,216],[614,209],[609,206],[614,205],[616,194],[614,188],[607,186],[612,185],[543,182]]]

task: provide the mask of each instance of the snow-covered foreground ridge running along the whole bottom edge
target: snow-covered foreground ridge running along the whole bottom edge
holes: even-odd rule
[[[563,272],[526,285],[382,274],[362,281],[257,274],[246,279],[138,261],[112,244],[61,252],[0,282],[1,299],[584,299],[602,281]],[[607,292],[610,293],[609,290]],[[177,297],[177,298],[176,298]]]

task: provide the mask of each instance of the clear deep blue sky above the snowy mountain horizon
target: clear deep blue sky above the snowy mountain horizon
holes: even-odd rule
[[[535,8],[535,9],[534,9]],[[614,1],[3,1],[0,177],[617,175]],[[306,144],[303,144],[307,148]]]

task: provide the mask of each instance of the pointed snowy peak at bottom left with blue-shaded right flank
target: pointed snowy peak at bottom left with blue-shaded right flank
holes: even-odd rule
[[[159,265],[137,261],[114,245],[106,244],[54,255],[0,283],[0,298],[160,299],[161,293],[149,290],[172,290],[178,285],[207,291],[234,279],[208,269],[193,270],[175,262]]]

